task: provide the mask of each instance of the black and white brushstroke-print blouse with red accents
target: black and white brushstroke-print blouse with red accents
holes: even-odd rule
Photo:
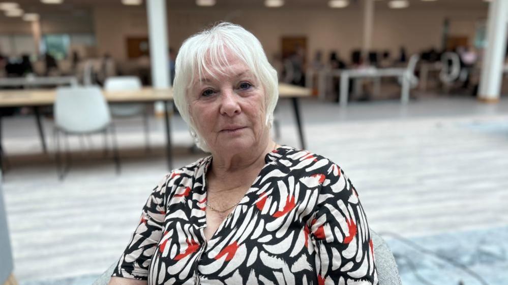
[[[173,170],[143,207],[113,276],[148,284],[377,284],[365,212],[342,169],[282,146],[208,241],[212,157]]]

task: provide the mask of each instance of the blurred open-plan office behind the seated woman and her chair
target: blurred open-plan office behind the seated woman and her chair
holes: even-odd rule
[[[218,21],[260,40],[276,141],[344,169],[404,284],[507,284],[508,0],[0,0],[0,283],[93,283],[206,155],[170,86]]]

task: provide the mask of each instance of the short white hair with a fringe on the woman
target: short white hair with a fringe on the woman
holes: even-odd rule
[[[268,62],[259,40],[240,25],[222,22],[210,29],[192,35],[178,51],[175,62],[173,99],[182,118],[190,127],[196,145],[210,151],[197,133],[189,112],[188,92],[204,74],[222,72],[219,66],[227,66],[226,53],[240,59],[259,81],[265,93],[266,125],[272,127],[274,110],[279,99],[278,77]],[[198,77],[196,78],[196,74]]]

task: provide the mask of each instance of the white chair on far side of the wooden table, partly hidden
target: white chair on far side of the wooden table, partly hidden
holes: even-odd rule
[[[104,83],[106,91],[135,91],[142,87],[141,80],[135,76],[116,76],[108,77]],[[148,111],[145,104],[129,103],[129,104],[111,104],[111,115],[115,118],[128,118],[142,115],[144,126],[144,138],[146,150],[150,150],[150,137],[148,129]]]

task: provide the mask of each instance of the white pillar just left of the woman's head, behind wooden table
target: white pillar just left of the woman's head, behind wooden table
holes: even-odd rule
[[[169,59],[166,21],[166,0],[147,0],[148,38],[150,40],[150,63],[152,86],[169,87]],[[164,112],[163,104],[155,105],[155,112]]]

